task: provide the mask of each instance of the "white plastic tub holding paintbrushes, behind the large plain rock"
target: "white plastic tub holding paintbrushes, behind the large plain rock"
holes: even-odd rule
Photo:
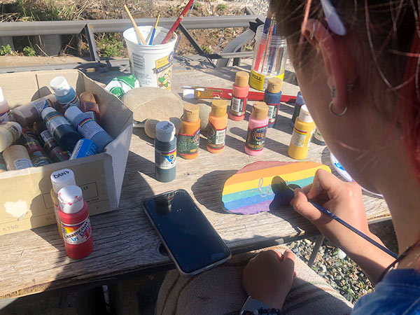
[[[139,29],[146,39],[146,43],[148,43],[153,27],[142,26]],[[139,45],[133,27],[124,31],[123,36],[125,43],[127,43],[131,73],[139,80],[140,86],[161,87],[171,90],[172,62],[177,36],[174,33],[166,44],[160,45],[167,32],[167,29],[158,27],[153,38],[154,45]]]

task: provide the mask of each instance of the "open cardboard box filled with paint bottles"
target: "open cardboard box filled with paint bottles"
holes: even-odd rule
[[[118,208],[133,123],[132,112],[120,99],[77,70],[1,74],[0,86],[13,109],[52,93],[49,84],[55,76],[64,76],[77,94],[94,94],[101,125],[114,141],[104,153],[87,158],[0,173],[0,235],[55,224],[50,175],[59,169],[74,172],[90,215]]]

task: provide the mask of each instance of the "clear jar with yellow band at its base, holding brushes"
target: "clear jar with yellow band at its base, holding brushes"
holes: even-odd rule
[[[287,50],[286,38],[264,33],[260,25],[255,33],[255,47],[249,85],[256,90],[265,90],[267,80],[272,77],[284,78]]]

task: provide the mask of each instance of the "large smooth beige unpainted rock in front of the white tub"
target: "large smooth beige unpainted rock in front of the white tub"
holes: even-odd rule
[[[183,115],[181,97],[159,87],[136,87],[125,93],[121,101],[133,112],[134,120],[140,123],[148,118],[181,118]]]

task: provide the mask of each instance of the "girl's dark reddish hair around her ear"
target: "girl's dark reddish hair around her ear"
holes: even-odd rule
[[[353,92],[364,91],[378,113],[402,130],[407,155],[420,181],[420,28],[418,0],[331,0],[353,39],[363,73]],[[304,18],[325,22],[320,0],[272,0],[279,30],[288,38],[297,68],[316,53],[301,35]],[[306,15],[306,16],[305,16]],[[334,35],[337,36],[337,35]],[[351,102],[351,95],[350,95]],[[366,106],[366,104],[351,104]]]

